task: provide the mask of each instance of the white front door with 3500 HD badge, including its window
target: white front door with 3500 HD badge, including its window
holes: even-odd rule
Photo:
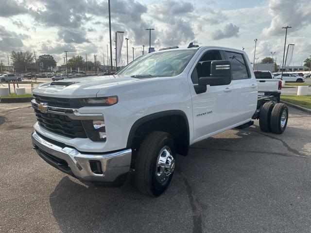
[[[209,86],[207,91],[197,94],[195,85],[200,77],[210,76],[210,64],[214,60],[225,60],[221,50],[207,50],[195,63],[191,74],[190,91],[193,105],[193,135],[198,141],[233,124],[230,113],[233,108],[233,85]]]

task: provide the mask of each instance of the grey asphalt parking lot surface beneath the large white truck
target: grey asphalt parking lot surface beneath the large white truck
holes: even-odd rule
[[[311,232],[311,115],[289,108],[282,135],[258,122],[191,146],[171,186],[140,194],[87,186],[32,149],[30,104],[0,103],[0,232]]]

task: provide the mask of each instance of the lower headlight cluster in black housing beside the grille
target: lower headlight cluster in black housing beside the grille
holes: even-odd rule
[[[104,120],[82,120],[87,137],[95,142],[106,141],[106,127]]]

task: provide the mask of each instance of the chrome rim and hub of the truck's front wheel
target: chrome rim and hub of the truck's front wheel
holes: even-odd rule
[[[157,157],[156,163],[156,181],[158,183],[165,183],[170,175],[172,175],[175,168],[175,159],[168,146],[163,147]]]

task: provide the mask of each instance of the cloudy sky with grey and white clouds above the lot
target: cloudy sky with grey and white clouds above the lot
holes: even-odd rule
[[[111,0],[111,17],[113,35],[124,31],[135,56],[142,45],[149,45],[145,29],[151,27],[155,50],[194,41],[244,47],[252,60],[257,38],[256,57],[275,51],[279,64],[285,34],[281,28],[286,25],[292,26],[287,42],[295,44],[294,65],[311,55],[310,0]],[[107,54],[107,0],[0,0],[0,22],[0,59],[5,65],[12,50],[51,54],[58,65],[64,50],[70,51],[69,57],[96,54],[101,62]]]

